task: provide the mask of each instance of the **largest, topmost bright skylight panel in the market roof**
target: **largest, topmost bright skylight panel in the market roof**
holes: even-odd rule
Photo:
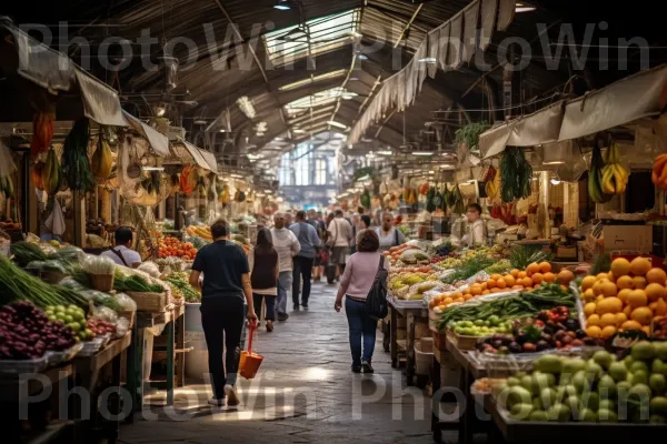
[[[263,41],[275,65],[288,64],[308,56],[318,56],[344,47],[359,30],[359,9],[310,19],[295,26],[267,32]],[[309,36],[310,34],[310,36]],[[309,38],[310,37],[310,38]]]

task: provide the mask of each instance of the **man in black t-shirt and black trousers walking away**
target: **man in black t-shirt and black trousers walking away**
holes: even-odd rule
[[[218,220],[211,225],[213,243],[197,253],[190,284],[201,290],[201,324],[209,355],[209,372],[213,397],[209,404],[222,406],[239,404],[236,380],[240,357],[241,331],[246,303],[248,321],[256,322],[248,259],[240,246],[229,240],[229,225]],[[200,276],[203,274],[203,284]],[[225,337],[225,342],[222,339]],[[222,363],[223,350],[227,357]]]

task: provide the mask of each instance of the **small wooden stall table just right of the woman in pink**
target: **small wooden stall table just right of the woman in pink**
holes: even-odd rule
[[[415,325],[419,320],[428,322],[428,309],[424,302],[402,301],[392,295],[387,295],[387,305],[389,306],[389,350],[391,353],[391,366],[399,367],[399,353],[402,349],[406,355],[406,380],[408,385],[415,384]],[[406,320],[406,340],[405,345],[398,340],[398,319]]]

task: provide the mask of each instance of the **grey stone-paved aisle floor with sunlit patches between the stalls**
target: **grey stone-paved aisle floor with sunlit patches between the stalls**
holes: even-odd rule
[[[209,407],[208,385],[190,384],[176,393],[175,408],[148,406],[125,425],[121,442],[432,443],[430,398],[391,370],[380,334],[376,374],[350,372],[347,320],[334,311],[335,291],[315,285],[310,311],[291,312],[273,333],[259,333],[265,362],[255,381],[240,382],[238,411]]]

